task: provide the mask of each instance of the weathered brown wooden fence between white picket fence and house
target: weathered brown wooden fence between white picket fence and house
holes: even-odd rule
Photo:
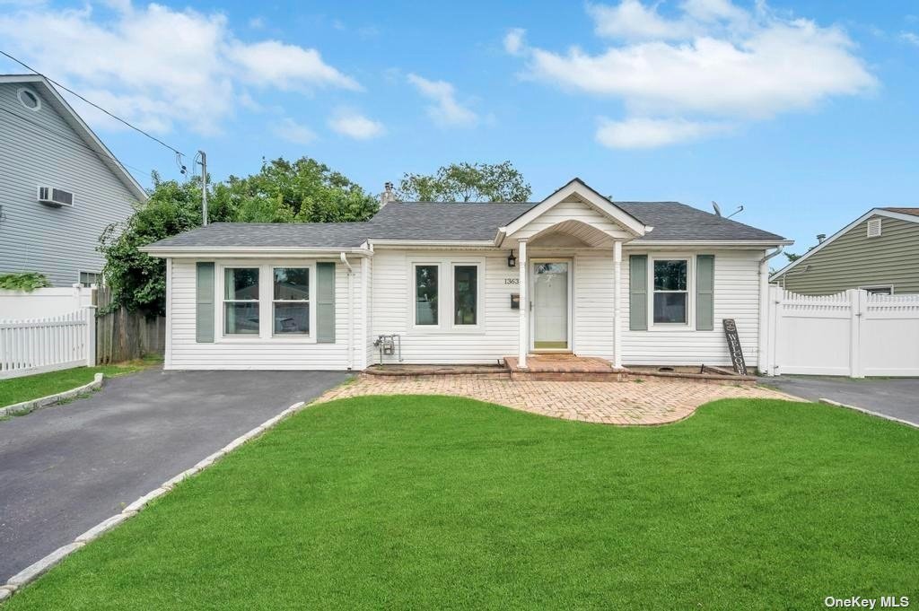
[[[96,361],[99,365],[163,355],[166,345],[165,317],[150,319],[137,311],[119,308],[108,311],[111,291],[96,289]]]

